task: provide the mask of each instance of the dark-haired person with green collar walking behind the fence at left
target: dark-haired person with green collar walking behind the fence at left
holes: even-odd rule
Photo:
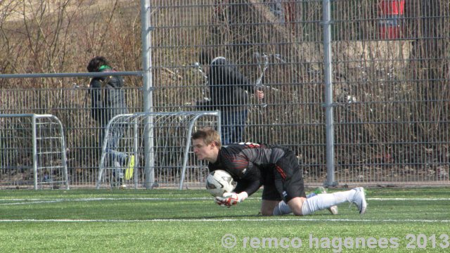
[[[114,72],[110,63],[103,56],[96,56],[89,61],[87,65],[89,72]],[[124,80],[120,76],[93,77],[89,84],[89,93],[91,95],[91,117],[98,122],[99,144],[103,145],[105,138],[105,128],[110,119],[120,114],[127,114],[127,104],[122,87]],[[108,162],[114,167],[113,174],[116,180],[123,185],[123,167],[127,160],[127,155],[117,152],[118,142],[123,135],[122,127],[110,129],[106,153],[109,155]]]

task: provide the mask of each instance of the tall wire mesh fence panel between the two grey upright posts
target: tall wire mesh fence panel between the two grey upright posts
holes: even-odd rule
[[[154,110],[192,110],[199,101],[214,100],[213,77],[203,66],[205,79],[196,63],[202,51],[222,56],[253,86],[244,105],[226,104],[226,110],[246,115],[242,141],[287,145],[307,181],[321,184],[321,1],[152,1],[151,8]],[[264,91],[264,98],[255,90]]]

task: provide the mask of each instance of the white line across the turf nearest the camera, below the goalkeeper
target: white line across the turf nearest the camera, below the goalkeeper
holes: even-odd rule
[[[125,220],[125,219],[0,219],[1,222],[111,222],[111,223],[150,223],[150,222],[224,222],[224,221],[338,221],[338,222],[423,222],[423,223],[450,223],[450,220],[432,219],[146,219],[146,220]]]

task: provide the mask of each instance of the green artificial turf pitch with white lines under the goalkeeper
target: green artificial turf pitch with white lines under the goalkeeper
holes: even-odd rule
[[[0,252],[449,252],[449,188],[366,192],[364,215],[263,217],[260,192],[226,208],[205,190],[1,190]]]

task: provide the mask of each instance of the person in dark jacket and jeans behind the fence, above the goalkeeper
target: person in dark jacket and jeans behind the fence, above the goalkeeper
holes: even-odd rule
[[[264,98],[263,91],[255,89],[248,79],[223,56],[212,58],[210,51],[200,53],[200,64],[208,76],[210,100],[195,101],[198,110],[221,112],[222,143],[243,141],[245,122],[248,116],[248,93]]]

